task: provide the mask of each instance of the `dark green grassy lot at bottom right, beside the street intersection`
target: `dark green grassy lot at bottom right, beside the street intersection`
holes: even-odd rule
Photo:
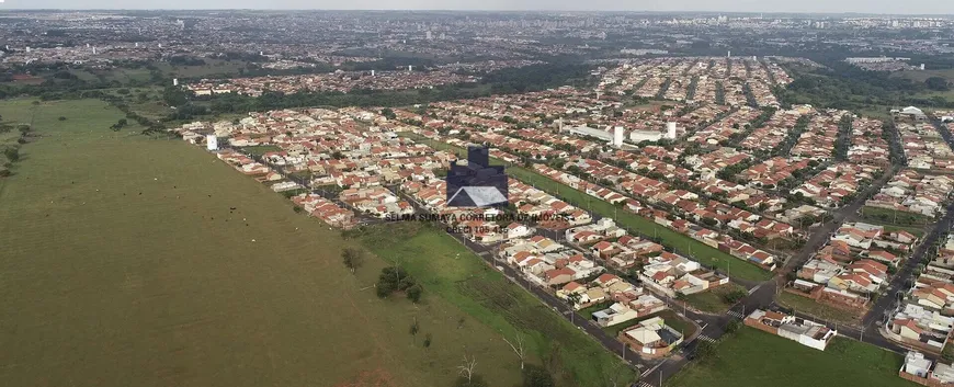
[[[898,377],[904,356],[836,338],[822,352],[742,327],[712,358],[684,367],[667,387],[913,387]]]

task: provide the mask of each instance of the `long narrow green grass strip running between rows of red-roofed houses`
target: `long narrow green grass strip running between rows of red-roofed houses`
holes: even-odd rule
[[[406,136],[414,140],[424,143],[435,149],[461,151],[459,148],[450,146],[443,143],[433,141],[413,134]],[[500,162],[500,160],[497,160]],[[530,169],[522,167],[509,167],[507,173],[521,180],[525,183],[533,184],[537,189],[544,190],[549,194],[556,195],[570,204],[578,207],[592,210],[605,217],[612,217],[616,223],[625,228],[643,232],[648,236],[658,236],[662,240],[662,244],[678,249],[680,252],[692,252],[692,258],[699,262],[718,268],[723,271],[731,269],[731,274],[742,280],[764,281],[772,277],[772,273],[762,270],[749,262],[742,261],[728,253],[714,249],[688,236],[673,231],[663,226],[657,225],[655,221],[641,217],[639,215],[618,209],[618,207],[601,200],[597,200],[583,192],[573,190],[572,187],[558,183],[545,175],[536,173]]]

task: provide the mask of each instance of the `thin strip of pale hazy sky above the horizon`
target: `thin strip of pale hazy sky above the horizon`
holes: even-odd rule
[[[0,9],[327,9],[954,14],[952,0],[0,0]]]

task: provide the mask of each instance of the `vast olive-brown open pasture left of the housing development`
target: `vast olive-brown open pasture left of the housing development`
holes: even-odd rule
[[[378,299],[385,261],[352,275],[338,231],[201,148],[114,133],[100,101],[36,113],[43,138],[0,179],[0,385],[441,387],[465,353],[489,385],[519,383],[482,316],[431,285],[417,306]]]

